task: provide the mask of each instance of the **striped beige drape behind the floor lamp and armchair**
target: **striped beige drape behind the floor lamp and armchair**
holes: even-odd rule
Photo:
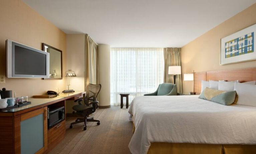
[[[181,48],[164,48],[164,82],[174,83],[173,75],[168,74],[169,66],[181,66]],[[176,75],[177,92],[182,93],[182,76]]]

